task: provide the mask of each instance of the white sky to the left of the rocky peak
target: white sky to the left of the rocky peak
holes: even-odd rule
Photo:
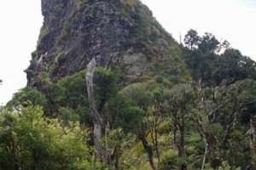
[[[40,0],[0,0],[0,105],[26,86],[42,23]]]

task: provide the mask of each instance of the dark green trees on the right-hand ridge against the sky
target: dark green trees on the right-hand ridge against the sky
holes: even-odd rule
[[[224,79],[236,82],[245,78],[256,78],[256,63],[243,56],[237,49],[230,48],[227,41],[218,42],[211,34],[199,37],[194,30],[188,31],[183,47],[183,59],[195,80],[220,83]],[[219,51],[224,51],[219,54]]]

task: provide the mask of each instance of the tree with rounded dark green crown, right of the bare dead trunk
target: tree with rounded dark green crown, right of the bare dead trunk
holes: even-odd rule
[[[143,122],[143,111],[120,92],[108,100],[104,115],[108,116],[111,130],[109,144],[112,150],[114,168],[119,169],[119,159],[123,150],[136,139],[137,129]],[[106,141],[107,143],[107,141]],[[106,147],[107,148],[107,147]]]

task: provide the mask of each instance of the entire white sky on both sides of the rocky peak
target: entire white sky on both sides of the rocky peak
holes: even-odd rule
[[[256,0],[142,0],[160,24],[179,41],[195,29],[228,40],[256,60]],[[0,105],[26,86],[31,53],[42,26],[40,0],[0,1]]]

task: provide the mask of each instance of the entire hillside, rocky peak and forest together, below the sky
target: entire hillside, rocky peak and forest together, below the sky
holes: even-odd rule
[[[42,14],[27,86],[0,109],[0,169],[256,168],[256,63],[229,42],[178,44],[139,0]]]

